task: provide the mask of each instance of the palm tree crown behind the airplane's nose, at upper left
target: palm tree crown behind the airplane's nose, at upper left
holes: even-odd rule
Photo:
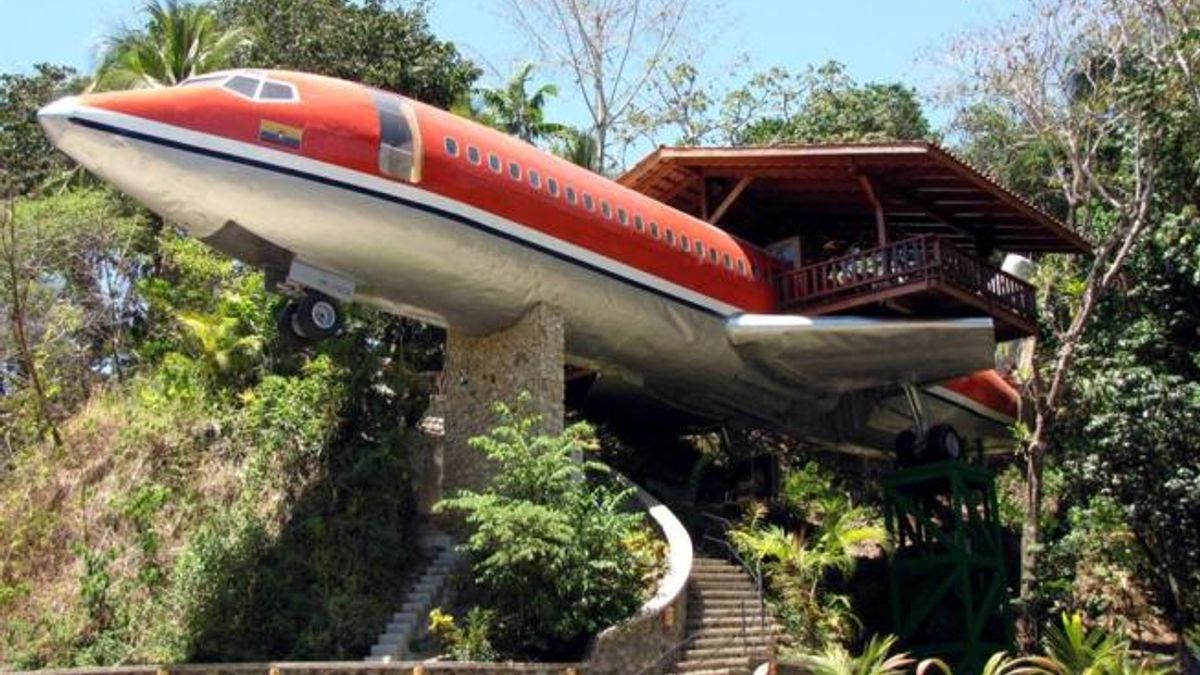
[[[143,30],[124,30],[103,46],[92,90],[170,86],[228,67],[250,44],[241,28],[222,28],[209,5],[151,0]]]

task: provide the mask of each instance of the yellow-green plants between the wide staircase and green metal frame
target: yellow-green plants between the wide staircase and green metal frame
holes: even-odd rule
[[[863,546],[887,544],[878,515],[856,506],[816,462],[785,477],[778,509],[790,527],[751,504],[728,531],[730,543],[762,569],[776,614],[800,645],[852,640],[859,622],[838,590],[848,585]]]

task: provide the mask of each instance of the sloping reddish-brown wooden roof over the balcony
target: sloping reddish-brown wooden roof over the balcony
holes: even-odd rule
[[[947,150],[925,142],[758,148],[659,148],[622,185],[743,234],[756,223],[820,220],[980,241],[1010,252],[1086,252],[1078,233]],[[728,196],[733,199],[721,209]]]

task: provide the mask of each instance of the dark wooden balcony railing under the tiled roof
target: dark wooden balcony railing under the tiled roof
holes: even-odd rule
[[[929,234],[786,271],[776,285],[780,305],[790,311],[857,298],[865,303],[904,287],[949,286],[976,297],[989,311],[997,307],[1034,319],[1033,286]]]

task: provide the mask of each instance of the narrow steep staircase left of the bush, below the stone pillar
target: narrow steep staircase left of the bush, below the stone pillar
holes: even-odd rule
[[[425,633],[430,610],[440,599],[446,579],[458,565],[461,555],[454,550],[454,540],[440,532],[430,531],[420,538],[425,560],[430,561],[421,575],[408,589],[400,611],[391,615],[379,640],[371,647],[371,656],[365,661],[389,662],[412,661],[409,645]]]

